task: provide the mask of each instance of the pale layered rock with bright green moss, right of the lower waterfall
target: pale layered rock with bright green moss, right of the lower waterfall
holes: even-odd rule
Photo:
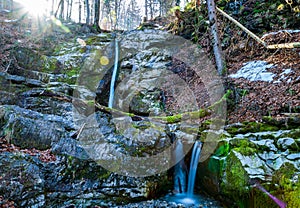
[[[233,200],[236,205],[277,207],[253,187],[260,181],[289,207],[298,207],[299,129],[274,128],[259,123],[228,126],[215,153],[199,164],[200,186],[229,204]]]

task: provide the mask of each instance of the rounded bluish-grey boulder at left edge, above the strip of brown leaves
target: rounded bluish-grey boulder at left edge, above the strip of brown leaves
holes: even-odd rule
[[[48,149],[66,137],[69,123],[55,116],[43,116],[17,106],[1,106],[1,135],[21,148]]]

